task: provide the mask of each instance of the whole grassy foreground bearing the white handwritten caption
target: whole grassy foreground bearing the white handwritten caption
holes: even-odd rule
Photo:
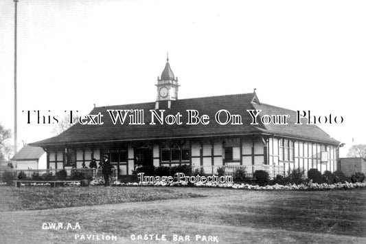
[[[219,243],[366,243],[366,190],[2,186],[0,195],[1,243],[209,243],[196,234]],[[80,230],[43,230],[43,223]],[[117,241],[76,239],[83,234]],[[174,242],[174,234],[190,241]]]

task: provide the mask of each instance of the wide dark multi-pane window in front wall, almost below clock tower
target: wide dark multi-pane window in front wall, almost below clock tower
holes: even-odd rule
[[[161,145],[161,162],[190,161],[190,145],[185,142]]]

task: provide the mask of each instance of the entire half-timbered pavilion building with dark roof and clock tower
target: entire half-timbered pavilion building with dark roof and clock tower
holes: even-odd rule
[[[216,173],[222,166],[242,166],[248,173],[268,170],[287,174],[293,168],[335,171],[340,142],[313,124],[295,124],[296,112],[260,102],[255,91],[205,98],[179,99],[179,82],[169,60],[157,80],[155,102],[95,107],[91,115],[102,114],[103,124],[75,124],[56,137],[32,143],[47,152],[47,168],[81,168],[91,159],[108,155],[118,175],[131,175],[136,166],[189,164]],[[242,115],[238,123],[219,124],[218,111]],[[187,124],[187,110],[208,115],[209,124]],[[290,115],[288,124],[252,124],[247,110],[267,115]],[[118,111],[128,113],[124,124],[113,123]],[[141,113],[141,111],[143,111]],[[171,120],[152,122],[152,111]],[[174,122],[180,113],[181,124]],[[135,115],[133,123],[129,115]],[[171,115],[171,116],[168,116]],[[220,113],[219,120],[227,114]],[[224,118],[220,118],[224,117]],[[141,122],[144,122],[142,124]],[[241,122],[241,124],[239,123]],[[139,124],[140,123],[140,124]]]

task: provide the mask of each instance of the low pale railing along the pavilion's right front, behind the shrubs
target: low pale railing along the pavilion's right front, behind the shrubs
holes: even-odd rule
[[[218,170],[222,170],[225,176],[233,176],[236,170],[244,170],[245,175],[248,178],[253,177],[255,170],[266,170],[270,178],[276,177],[276,175],[285,176],[285,167],[279,165],[224,165],[224,166],[195,166],[193,170],[198,172],[203,172],[206,174],[215,174]]]

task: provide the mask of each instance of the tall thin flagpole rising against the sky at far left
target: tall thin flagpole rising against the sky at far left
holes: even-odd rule
[[[17,15],[17,3],[18,0],[13,0],[14,1],[14,7],[15,7],[15,12],[14,12],[14,154],[17,151],[17,140],[18,140],[18,124],[17,124],[17,107],[16,107],[16,15]]]

